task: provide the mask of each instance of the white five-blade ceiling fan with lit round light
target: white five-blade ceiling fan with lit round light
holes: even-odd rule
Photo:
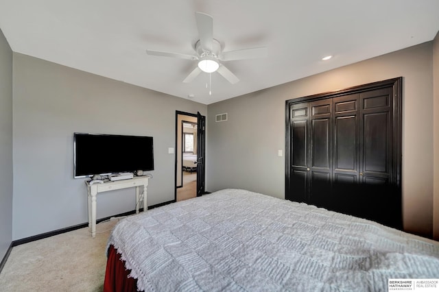
[[[265,47],[255,47],[250,49],[240,49],[236,51],[222,51],[222,46],[218,40],[213,38],[213,17],[203,12],[195,12],[195,19],[198,27],[200,39],[195,43],[194,55],[183,53],[172,53],[168,51],[154,51],[147,49],[148,55],[163,56],[198,61],[195,69],[187,75],[184,83],[189,83],[195,79],[201,72],[213,73],[218,72],[231,84],[239,82],[238,77],[233,74],[222,62],[233,60],[245,60],[261,58],[266,56]]]

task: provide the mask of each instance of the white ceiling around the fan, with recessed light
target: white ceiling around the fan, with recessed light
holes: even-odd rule
[[[223,51],[268,56],[224,62],[240,81],[212,73],[212,95],[209,73],[183,83],[196,61],[146,49],[193,54],[195,12]],[[212,104],[433,40],[439,0],[0,0],[0,29],[14,52]]]

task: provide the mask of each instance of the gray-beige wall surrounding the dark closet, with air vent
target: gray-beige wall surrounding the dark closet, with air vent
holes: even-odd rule
[[[206,189],[247,188],[285,197],[285,101],[403,77],[403,224],[433,226],[433,42],[209,105]],[[215,123],[215,114],[228,121]],[[278,157],[278,149],[284,156]],[[213,166],[213,167],[212,167]]]

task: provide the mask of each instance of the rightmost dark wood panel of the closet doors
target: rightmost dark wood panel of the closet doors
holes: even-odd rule
[[[401,228],[401,195],[394,181],[392,88],[360,94],[359,215]]]

